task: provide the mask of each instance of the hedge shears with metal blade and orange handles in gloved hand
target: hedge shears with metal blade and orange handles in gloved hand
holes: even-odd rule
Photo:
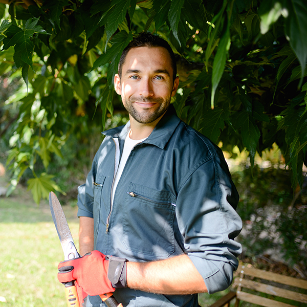
[[[61,246],[64,252],[64,260],[72,260],[80,257],[71,231],[69,229],[65,213],[62,206],[53,192],[49,193],[49,205],[53,218],[55,228],[57,230]],[[70,281],[65,285],[65,295],[67,299],[68,307],[80,307],[79,297],[75,286],[75,281]],[[106,293],[99,295],[102,301],[106,303],[108,307],[123,307],[121,303],[118,303],[112,293]],[[85,307],[85,303],[82,303]]]

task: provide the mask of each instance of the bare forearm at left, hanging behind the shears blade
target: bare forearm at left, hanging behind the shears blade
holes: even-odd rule
[[[94,218],[80,216],[79,253],[83,256],[94,250]]]

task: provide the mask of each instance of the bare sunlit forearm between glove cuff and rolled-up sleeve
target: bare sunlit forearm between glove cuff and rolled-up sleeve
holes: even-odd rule
[[[187,255],[152,262],[127,262],[127,285],[158,294],[207,292],[204,279]]]

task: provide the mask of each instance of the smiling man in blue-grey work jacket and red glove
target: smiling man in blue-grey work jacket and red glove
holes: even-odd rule
[[[237,268],[238,194],[221,149],[170,105],[176,74],[158,36],[124,50],[114,83],[130,121],[104,132],[78,190],[80,253],[90,254],[59,265],[61,282],[124,306],[198,306],[196,293],[226,289]]]

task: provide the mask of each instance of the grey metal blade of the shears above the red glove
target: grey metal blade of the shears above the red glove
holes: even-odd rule
[[[64,252],[64,260],[78,258],[79,254],[75,247],[74,239],[69,229],[65,213],[53,192],[49,193],[49,205],[53,222]]]

